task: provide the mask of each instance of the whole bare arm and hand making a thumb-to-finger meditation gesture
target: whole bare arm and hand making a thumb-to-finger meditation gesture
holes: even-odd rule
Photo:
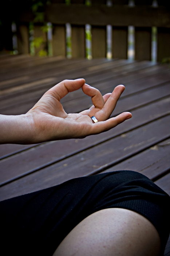
[[[83,92],[91,97],[92,107],[77,114],[67,114],[60,99],[81,87]],[[124,112],[108,119],[123,91],[124,86],[119,85],[112,93],[102,96],[99,90],[85,84],[84,79],[64,80],[48,90],[26,114],[0,115],[0,142],[40,143],[58,139],[84,138],[108,131],[131,118],[131,113]],[[91,118],[92,116],[95,118]]]

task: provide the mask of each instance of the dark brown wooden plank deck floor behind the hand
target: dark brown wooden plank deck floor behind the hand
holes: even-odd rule
[[[27,112],[63,79],[85,78],[102,94],[126,90],[113,115],[133,118],[100,135],[38,145],[0,145],[0,200],[115,170],[145,174],[170,195],[170,67],[150,61],[4,56],[0,59],[0,114]],[[91,106],[82,90],[68,94],[66,112]],[[170,255],[170,240],[165,255]]]

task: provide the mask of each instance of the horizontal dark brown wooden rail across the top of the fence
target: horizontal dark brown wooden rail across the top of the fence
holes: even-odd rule
[[[46,11],[47,22],[53,24],[71,23],[74,25],[98,26],[135,26],[135,27],[170,27],[169,10],[164,6],[153,8],[151,5],[91,5],[84,4],[50,4]],[[33,15],[24,13],[20,21],[33,20]]]

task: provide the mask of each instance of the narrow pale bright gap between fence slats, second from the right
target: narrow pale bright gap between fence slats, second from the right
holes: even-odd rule
[[[130,8],[135,6],[134,0],[129,0]],[[134,61],[135,59],[135,27],[128,26],[128,42],[127,42],[127,59]]]

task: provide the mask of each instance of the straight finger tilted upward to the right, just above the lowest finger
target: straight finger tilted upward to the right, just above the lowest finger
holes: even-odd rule
[[[112,94],[104,104],[103,108],[95,113],[95,117],[98,119],[98,121],[107,120],[110,117],[124,89],[125,87],[122,84],[115,87]],[[92,113],[89,114],[91,115]]]

